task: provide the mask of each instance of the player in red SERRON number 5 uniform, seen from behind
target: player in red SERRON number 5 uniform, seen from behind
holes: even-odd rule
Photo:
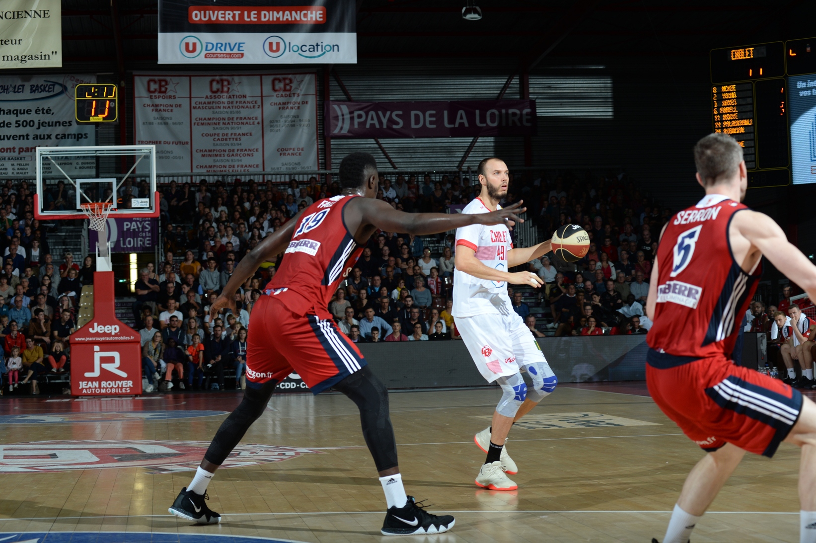
[[[652,269],[646,381],[654,402],[708,454],[685,479],[663,543],[686,543],[745,452],[801,447],[800,541],[816,543],[816,405],[790,386],[734,365],[740,323],[763,255],[816,296],[816,267],[769,216],[742,203],[743,149],[711,134],[694,147],[705,197],[670,217]],[[657,540],[652,540],[653,543]]]

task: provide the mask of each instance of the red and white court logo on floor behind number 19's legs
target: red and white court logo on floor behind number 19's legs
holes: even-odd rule
[[[206,441],[38,441],[0,445],[0,474],[61,473],[67,470],[145,468],[149,474],[195,471],[210,446]],[[320,451],[242,443],[221,468],[281,462]]]

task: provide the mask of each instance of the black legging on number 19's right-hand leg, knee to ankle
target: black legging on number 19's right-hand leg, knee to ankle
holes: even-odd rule
[[[377,471],[397,467],[397,439],[388,413],[388,389],[363,366],[334,386],[360,409],[360,424]]]

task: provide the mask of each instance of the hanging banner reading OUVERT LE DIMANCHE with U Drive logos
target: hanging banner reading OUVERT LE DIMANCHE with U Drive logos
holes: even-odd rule
[[[159,0],[159,64],[354,64],[355,0]]]

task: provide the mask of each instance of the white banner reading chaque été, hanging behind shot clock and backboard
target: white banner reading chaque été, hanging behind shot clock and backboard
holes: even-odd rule
[[[0,176],[36,176],[38,146],[96,145],[94,127],[78,125],[73,111],[73,87],[95,82],[95,75],[0,77]],[[44,175],[54,172],[45,165]]]

